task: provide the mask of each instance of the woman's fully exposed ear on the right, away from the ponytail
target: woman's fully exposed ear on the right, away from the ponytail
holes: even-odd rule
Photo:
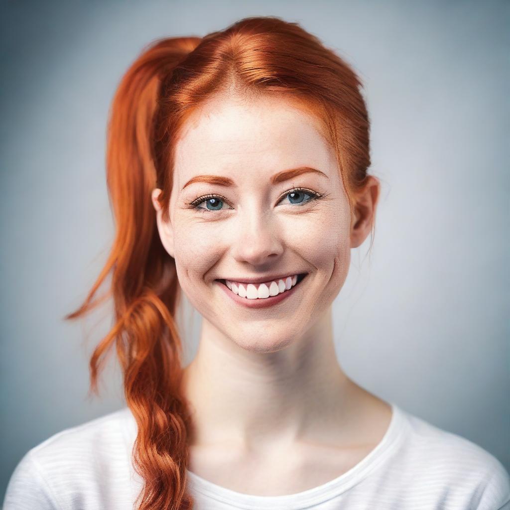
[[[367,177],[367,184],[355,197],[356,203],[350,226],[351,248],[360,246],[370,233],[371,223],[375,221],[379,194],[379,180],[377,177],[369,175]]]

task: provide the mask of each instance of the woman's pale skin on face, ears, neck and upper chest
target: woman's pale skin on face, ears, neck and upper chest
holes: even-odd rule
[[[271,183],[284,170],[309,167]],[[227,177],[231,186],[198,182]],[[305,188],[322,194],[289,191]],[[188,469],[246,494],[311,489],[358,464],[384,436],[390,405],[339,365],[331,303],[350,250],[370,234],[380,183],[371,176],[350,214],[333,149],[313,119],[282,98],[217,97],[176,146],[170,220],[152,192],[158,231],[180,285],[202,316],[183,388],[194,413]],[[208,209],[204,195],[217,197]],[[220,209],[217,209],[217,208]],[[308,273],[292,295],[244,308],[217,279]]]

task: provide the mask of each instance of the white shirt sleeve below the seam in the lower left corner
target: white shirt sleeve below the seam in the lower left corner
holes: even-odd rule
[[[4,498],[3,510],[61,510],[31,452],[14,469]]]

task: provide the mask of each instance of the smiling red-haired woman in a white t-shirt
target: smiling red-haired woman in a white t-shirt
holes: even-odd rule
[[[127,406],[13,473],[20,508],[503,508],[489,452],[349,379],[331,303],[379,181],[352,69],[296,23],[246,18],[152,44],[113,101],[115,346]],[[202,315],[183,368],[180,289]]]

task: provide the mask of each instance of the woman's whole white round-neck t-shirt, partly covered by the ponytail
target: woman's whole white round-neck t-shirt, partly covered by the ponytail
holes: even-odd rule
[[[394,403],[380,443],[346,473],[284,496],[253,496],[188,471],[195,510],[500,510],[510,476],[495,456]],[[12,473],[4,510],[132,510],[142,488],[129,407],[67,428],[29,450]]]

